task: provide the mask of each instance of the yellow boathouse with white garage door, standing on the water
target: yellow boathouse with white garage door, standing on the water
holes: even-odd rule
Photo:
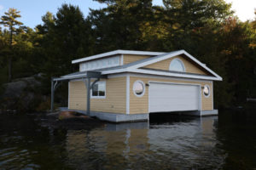
[[[213,81],[222,81],[184,50],[171,53],[115,50],[72,61],[79,71],[52,79],[68,82],[68,110],[110,122],[148,120],[148,114],[182,111],[216,115]]]

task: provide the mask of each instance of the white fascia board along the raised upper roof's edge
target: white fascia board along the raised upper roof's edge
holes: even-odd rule
[[[110,51],[108,53],[92,55],[92,56],[85,57],[85,58],[82,58],[82,59],[74,59],[72,61],[72,64],[88,61],[88,60],[91,60],[91,59],[100,59],[100,58],[103,58],[103,57],[108,57],[110,55],[116,55],[116,54],[160,55],[160,54],[165,54],[165,53],[164,52],[150,52],[150,51],[131,51],[131,50],[121,50],[121,49],[119,49],[119,50]]]

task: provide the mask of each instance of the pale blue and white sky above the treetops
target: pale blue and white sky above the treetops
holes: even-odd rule
[[[256,0],[225,0],[232,3],[232,9],[236,11],[236,15],[240,20],[253,20],[254,8],[256,8]],[[78,5],[84,16],[89,14],[89,8],[104,8],[105,5],[97,3],[93,0],[0,0],[0,16],[9,8],[17,8],[20,11],[20,21],[25,26],[34,28],[42,23],[42,16],[46,12],[56,14],[62,3],[71,3]],[[153,0],[154,5],[162,5],[162,0]]]

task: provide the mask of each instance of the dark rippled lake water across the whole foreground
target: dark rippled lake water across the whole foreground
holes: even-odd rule
[[[2,114],[0,169],[256,169],[255,116],[150,119],[68,130]]]

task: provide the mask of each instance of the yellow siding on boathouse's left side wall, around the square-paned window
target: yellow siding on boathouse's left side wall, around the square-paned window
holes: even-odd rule
[[[84,82],[69,82],[69,109],[86,111],[86,88]],[[106,98],[90,98],[90,110],[126,113],[126,78],[106,79]]]

